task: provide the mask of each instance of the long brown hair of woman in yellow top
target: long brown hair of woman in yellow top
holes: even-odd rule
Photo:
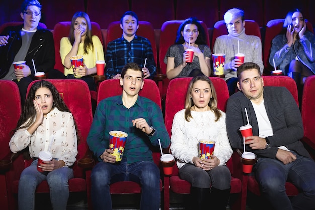
[[[91,26],[91,21],[89,18],[89,15],[86,14],[85,12],[76,12],[71,21],[71,29],[70,29],[70,35],[69,35],[69,40],[71,45],[73,46],[75,38],[74,38],[74,23],[77,18],[84,18],[87,21],[87,34],[84,39],[83,43],[83,49],[84,53],[88,54],[88,49],[90,48],[93,51],[93,42],[92,42],[92,26]]]

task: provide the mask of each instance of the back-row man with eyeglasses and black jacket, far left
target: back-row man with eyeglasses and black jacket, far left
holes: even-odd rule
[[[55,65],[55,47],[52,33],[38,26],[42,6],[37,0],[25,0],[21,6],[23,24],[9,26],[0,35],[0,79],[13,80],[19,86],[22,105],[26,90],[37,71],[48,72]],[[21,69],[14,69],[13,62]]]

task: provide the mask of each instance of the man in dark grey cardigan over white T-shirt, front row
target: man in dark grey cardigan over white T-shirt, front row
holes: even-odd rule
[[[258,156],[254,173],[261,193],[274,209],[313,209],[315,162],[299,141],[303,123],[293,96],[285,87],[264,87],[259,66],[244,63],[237,70],[239,92],[226,108],[226,128],[233,148],[243,148],[239,128],[249,123],[253,136],[246,150]],[[285,192],[290,180],[301,192],[291,200]]]

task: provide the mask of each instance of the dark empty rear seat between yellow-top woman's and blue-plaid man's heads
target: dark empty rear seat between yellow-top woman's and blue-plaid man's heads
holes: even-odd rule
[[[113,21],[120,21],[121,16],[129,10],[128,0],[89,0],[86,2],[86,11],[90,20],[98,22],[102,29],[106,29]]]

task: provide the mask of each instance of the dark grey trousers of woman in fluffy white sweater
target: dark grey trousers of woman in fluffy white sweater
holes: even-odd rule
[[[193,187],[210,188],[212,186],[220,190],[231,188],[231,173],[225,165],[205,171],[193,164],[185,164],[180,168],[179,176],[191,183]]]

